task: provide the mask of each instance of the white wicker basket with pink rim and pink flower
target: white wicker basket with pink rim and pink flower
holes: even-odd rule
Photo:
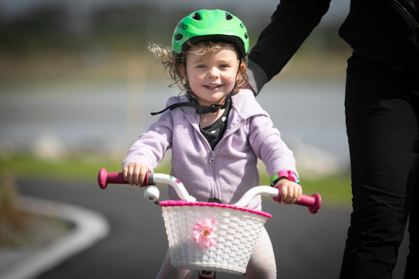
[[[177,269],[245,273],[260,230],[272,217],[230,204],[166,201],[160,205],[171,264]],[[203,242],[200,246],[193,232],[197,234],[205,222],[211,231],[200,235],[207,244],[201,248]]]

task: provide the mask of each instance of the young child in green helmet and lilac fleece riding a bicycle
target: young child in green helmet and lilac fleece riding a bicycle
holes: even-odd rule
[[[302,189],[293,153],[247,84],[247,30],[223,10],[198,10],[175,29],[171,53],[156,45],[151,50],[170,70],[183,96],[169,98],[158,121],[131,146],[123,163],[124,179],[140,186],[172,149],[170,174],[182,181],[199,202],[234,204],[259,185],[258,158],[281,186],[281,201],[300,200]],[[168,188],[170,199],[179,199]],[[248,206],[261,209],[255,197]],[[157,278],[188,278],[191,271],[170,266],[166,255]],[[249,261],[246,278],[276,278],[274,253],[265,229]]]

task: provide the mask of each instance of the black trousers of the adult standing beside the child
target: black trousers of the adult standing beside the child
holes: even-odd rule
[[[404,278],[417,278],[419,75],[352,56],[345,109],[353,213],[340,278],[392,278],[407,220]]]

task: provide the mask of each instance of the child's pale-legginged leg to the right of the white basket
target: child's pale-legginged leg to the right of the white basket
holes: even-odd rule
[[[247,264],[247,271],[244,273],[244,277],[247,279],[277,278],[274,249],[265,227],[263,227],[256,241],[256,246],[250,257],[249,264]]]

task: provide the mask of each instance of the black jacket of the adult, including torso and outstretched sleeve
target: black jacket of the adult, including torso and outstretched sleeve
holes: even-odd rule
[[[263,69],[267,81],[284,68],[328,11],[329,4],[330,0],[281,0],[249,53],[249,59]],[[339,36],[360,58],[404,71],[419,68],[418,21],[413,0],[351,0]]]

